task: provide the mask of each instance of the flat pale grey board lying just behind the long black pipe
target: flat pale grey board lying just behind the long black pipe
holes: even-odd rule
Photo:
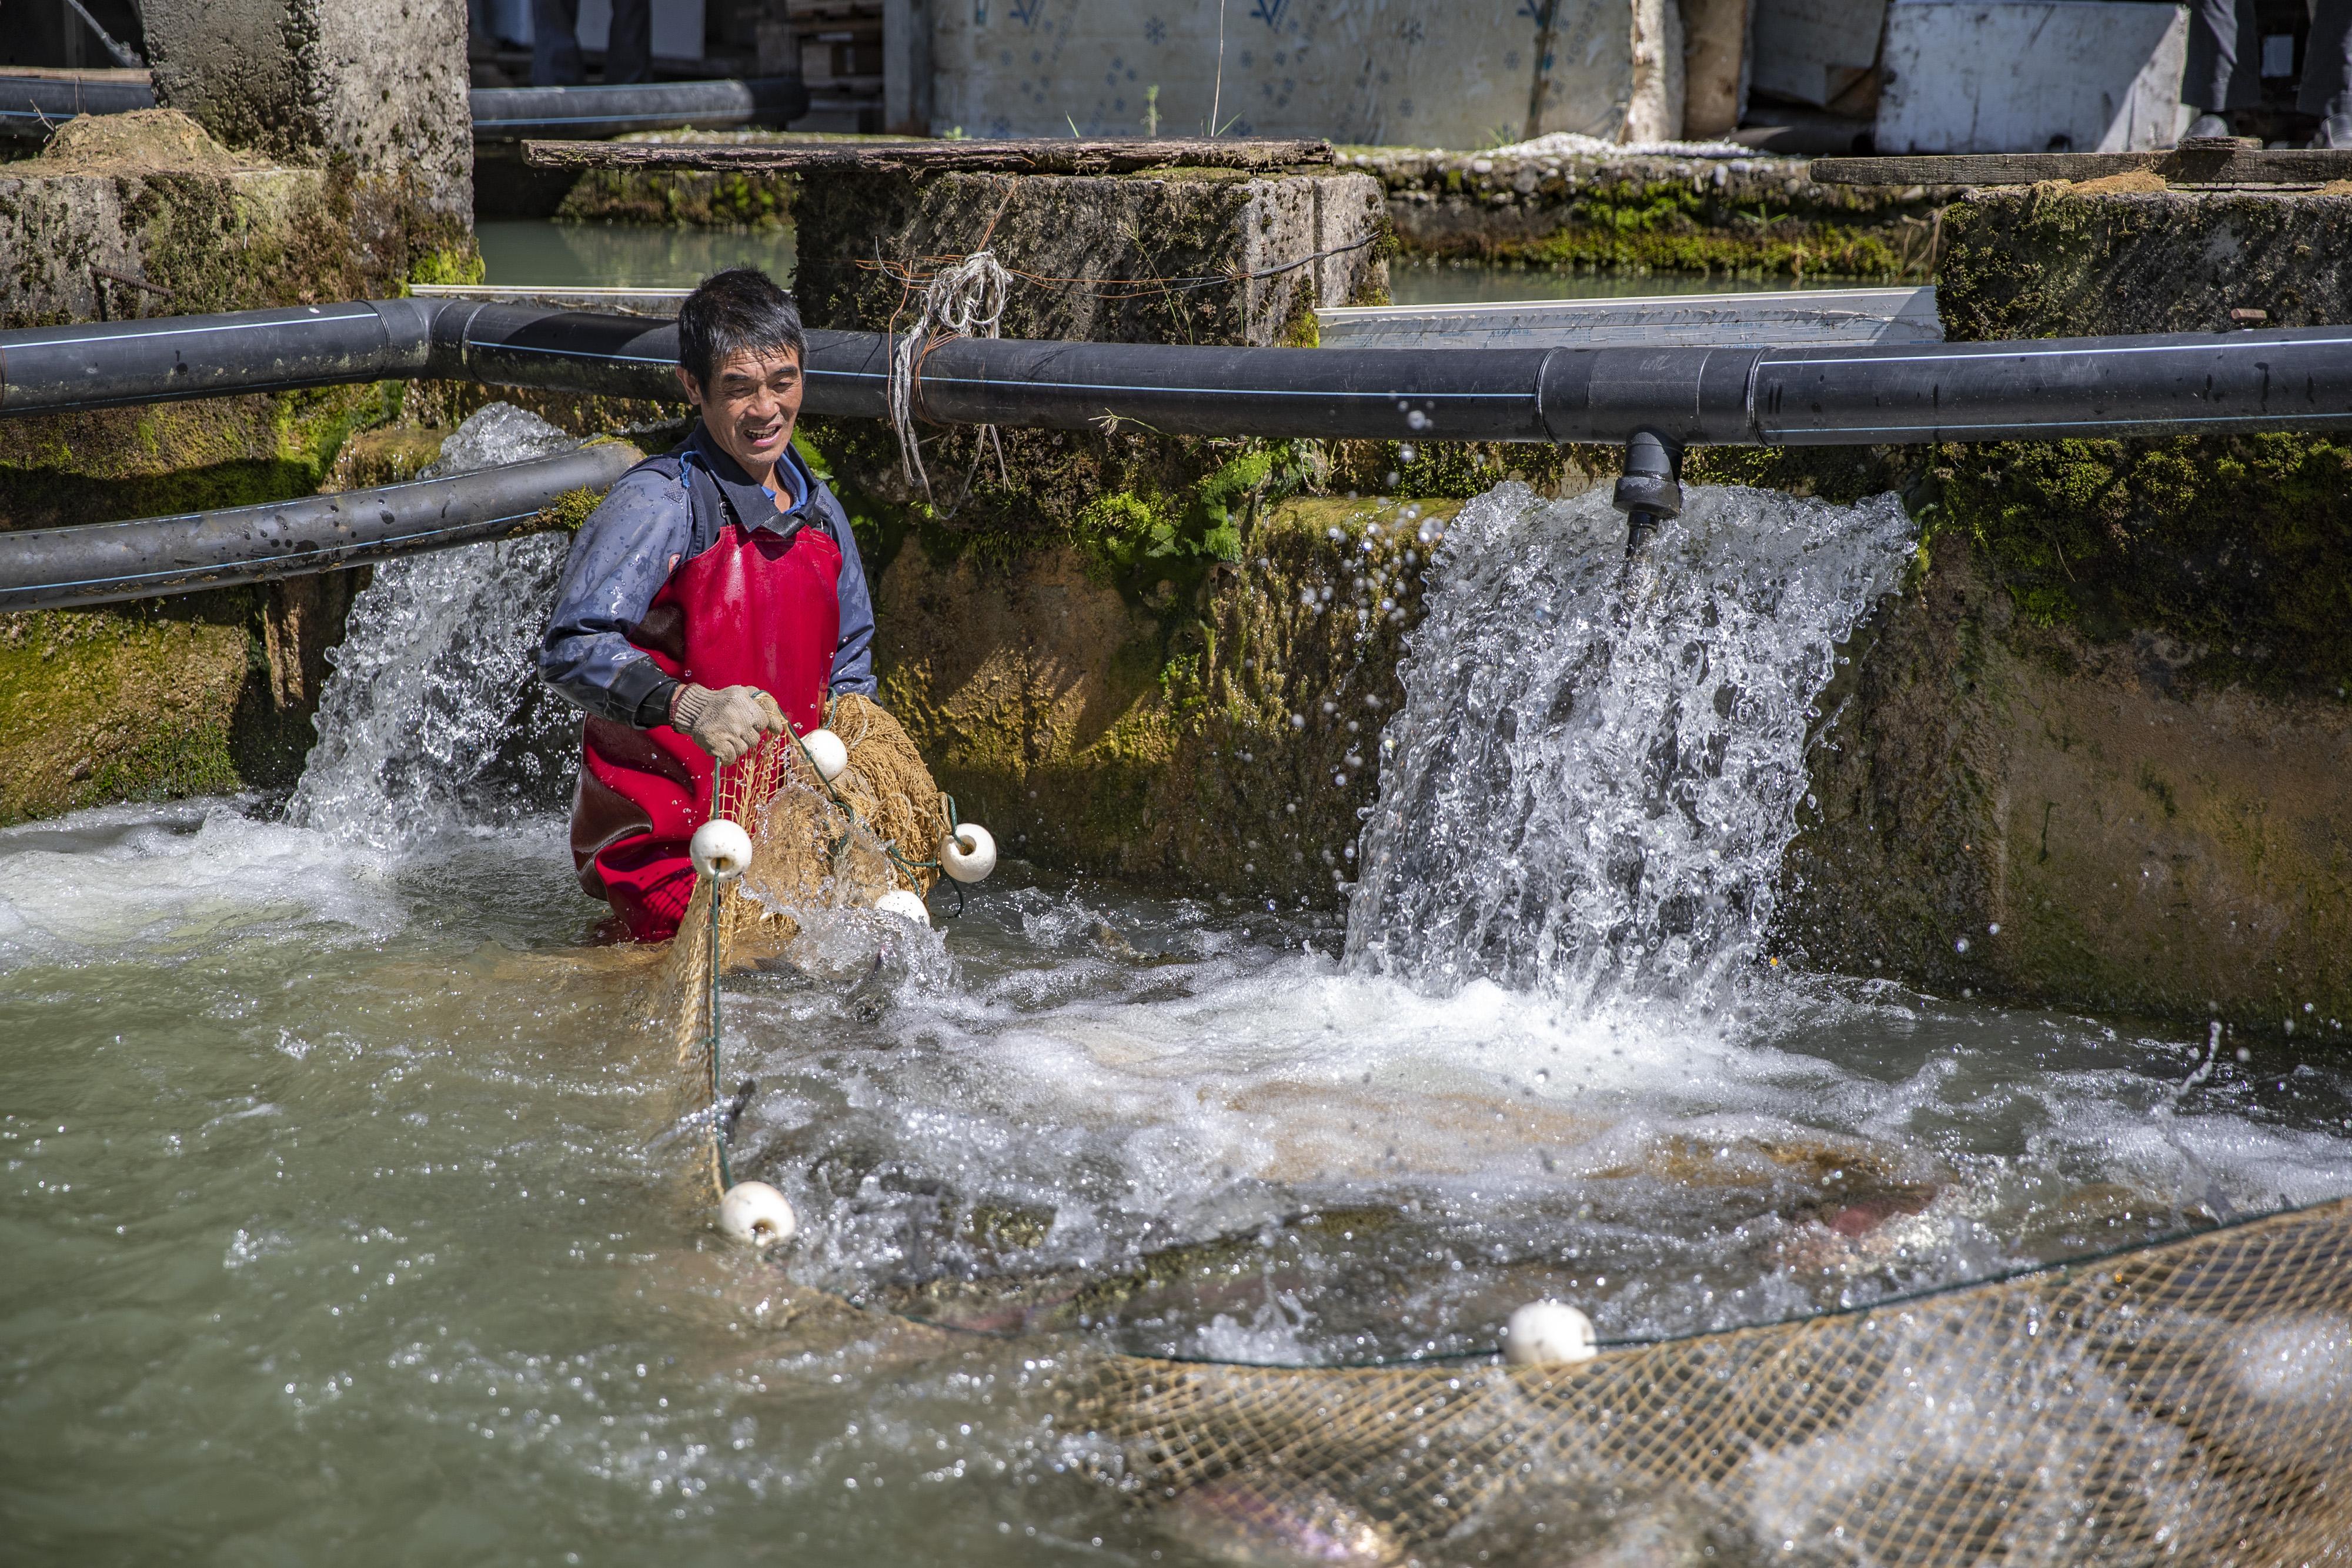
[[[1324,348],[1940,343],[1936,289],[1776,289],[1315,313]]]

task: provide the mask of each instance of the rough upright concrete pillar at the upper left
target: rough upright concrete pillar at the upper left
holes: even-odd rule
[[[226,146],[350,181],[362,270],[470,259],[463,0],[146,0],[155,99]]]

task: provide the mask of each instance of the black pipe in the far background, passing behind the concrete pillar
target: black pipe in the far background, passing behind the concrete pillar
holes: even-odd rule
[[[155,108],[148,82],[73,78],[0,78],[0,134],[47,136],[75,115],[118,115]],[[809,89],[797,75],[755,75],[717,82],[623,82],[616,87],[475,87],[475,141],[567,141],[623,132],[786,125],[809,113]]]

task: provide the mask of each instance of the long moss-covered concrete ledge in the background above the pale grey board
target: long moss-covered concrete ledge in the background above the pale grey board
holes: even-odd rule
[[[1926,282],[1943,186],[1825,186],[1802,158],[1352,148],[1432,261]]]

